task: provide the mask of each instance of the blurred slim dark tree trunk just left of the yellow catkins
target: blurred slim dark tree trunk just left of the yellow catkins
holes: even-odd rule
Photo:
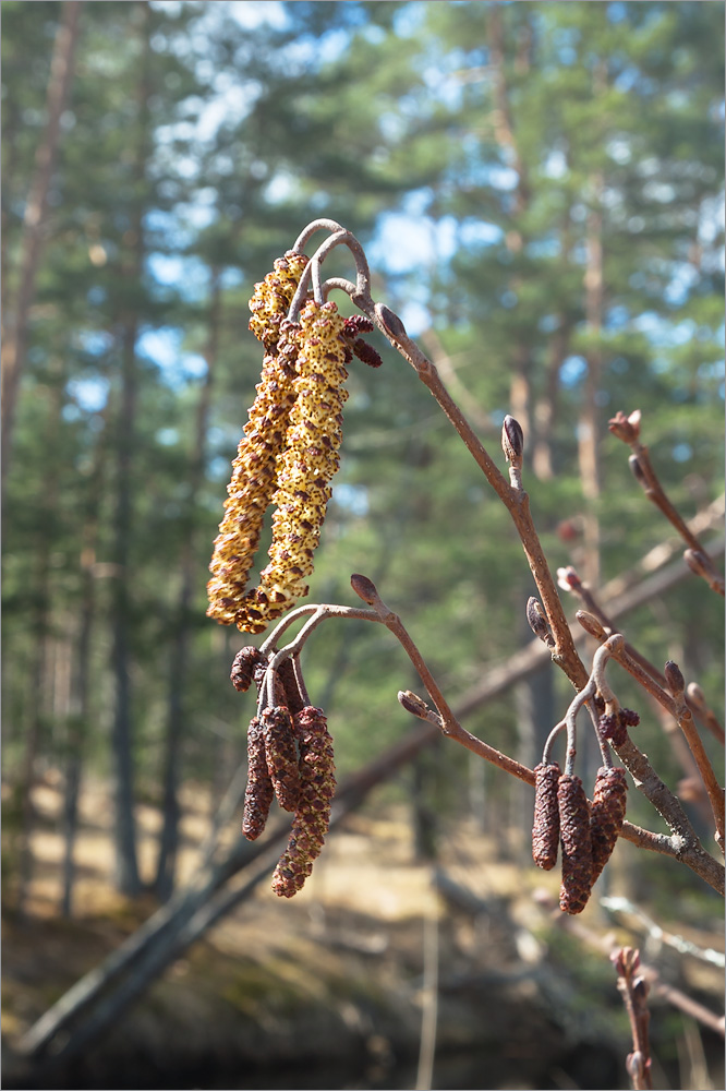
[[[181,588],[178,602],[178,620],[171,645],[171,662],[169,671],[169,704],[167,716],[167,733],[165,743],[164,769],[164,825],[159,840],[159,855],[156,867],[155,889],[157,895],[166,899],[174,885],[177,852],[179,849],[179,779],[181,742],[184,733],[184,686],[190,656],[190,620],[194,586],[197,579],[196,555],[194,552],[193,514],[197,505],[199,487],[204,477],[207,427],[209,421],[209,401],[211,397],[213,379],[219,347],[219,323],[221,310],[221,277],[220,271],[211,271],[211,291],[209,301],[209,333],[205,359],[207,373],[199,393],[196,410],[196,435],[190,472],[187,499],[189,525],[184,532],[181,556]]]

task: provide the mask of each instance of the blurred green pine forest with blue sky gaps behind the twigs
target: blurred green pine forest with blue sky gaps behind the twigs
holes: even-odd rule
[[[13,919],[28,927],[37,910],[39,787],[58,792],[64,861],[46,915],[83,916],[84,784],[113,786],[109,879],[164,901],[184,801],[214,803],[245,759],[252,702],[228,673],[249,640],[205,618],[207,564],[262,362],[247,300],[311,219],[358,235],[374,297],[493,453],[505,413],[520,421],[553,570],[574,564],[598,590],[673,537],[608,436],[616,410],[643,411],[683,517],[717,501],[723,39],[721,2],[2,3]],[[338,252],[334,272],[351,274]],[[456,705],[529,643],[534,588],[473,460],[371,339],[384,367],[350,369],[310,598],[355,604],[350,574],[370,575]],[[723,615],[702,580],[675,582],[624,625],[723,711]],[[304,664],[339,779],[411,730],[396,692],[416,680],[378,626],[323,626]],[[629,680],[618,692],[675,787],[667,732]],[[547,667],[467,727],[532,766],[567,693]],[[636,794],[629,817],[662,828]],[[141,805],[159,815],[143,859]],[[420,755],[367,804],[388,805],[410,813],[420,854],[473,820],[531,866],[530,790],[457,747]],[[721,916],[675,861],[622,860],[620,892],[656,915]]]

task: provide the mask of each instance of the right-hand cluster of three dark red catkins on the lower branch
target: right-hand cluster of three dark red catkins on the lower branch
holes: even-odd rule
[[[601,728],[607,734],[608,721]],[[638,722],[638,714],[620,709],[622,731]],[[603,766],[597,770],[592,804],[582,781],[562,774],[557,762],[541,763],[534,769],[534,823],[532,858],[537,867],[550,871],[561,848],[559,908],[564,913],[581,913],[590,892],[615,848],[626,815],[625,769]]]

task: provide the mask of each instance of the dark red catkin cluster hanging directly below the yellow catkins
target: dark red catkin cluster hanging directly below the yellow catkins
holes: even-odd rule
[[[265,685],[267,660],[257,648],[242,648],[232,664],[232,684]],[[322,708],[303,703],[289,660],[274,686],[275,705],[255,716],[247,730],[247,787],[242,832],[254,841],[265,829],[274,796],[294,814],[288,847],[273,876],[281,898],[300,890],[319,856],[330,824],[336,788],[332,739]]]

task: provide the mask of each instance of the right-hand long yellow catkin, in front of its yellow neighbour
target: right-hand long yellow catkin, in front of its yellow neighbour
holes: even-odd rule
[[[269,564],[259,586],[245,597],[237,614],[241,630],[261,632],[307,594],[306,577],[330,499],[330,479],[339,465],[342,407],[355,333],[346,327],[335,303],[305,304],[300,323],[283,336],[297,350],[298,375],[292,383],[285,442],[277,455]]]

